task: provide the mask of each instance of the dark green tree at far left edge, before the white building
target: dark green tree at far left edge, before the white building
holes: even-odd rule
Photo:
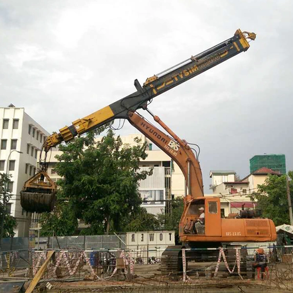
[[[4,216],[3,232],[2,237],[11,237],[14,236],[14,228],[17,226],[15,217],[7,213],[6,208],[4,207],[3,199],[5,198],[7,205],[11,198],[11,194],[6,190],[5,187],[8,186],[10,182],[10,176],[0,173],[0,225],[2,225],[2,220]]]

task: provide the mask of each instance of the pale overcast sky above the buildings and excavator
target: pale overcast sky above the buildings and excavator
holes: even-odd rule
[[[24,107],[58,131],[240,28],[257,35],[247,52],[158,96],[150,110],[201,146],[207,193],[209,170],[244,177],[255,154],[284,153],[292,170],[292,11],[292,0],[2,0],[0,106]],[[116,133],[137,130],[126,123]]]

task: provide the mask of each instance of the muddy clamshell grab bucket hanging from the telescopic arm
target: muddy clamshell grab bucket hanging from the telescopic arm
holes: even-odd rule
[[[49,212],[56,202],[56,184],[45,171],[38,172],[24,183],[21,207],[30,212]]]

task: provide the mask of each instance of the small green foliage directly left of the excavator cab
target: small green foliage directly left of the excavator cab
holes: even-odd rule
[[[179,233],[179,222],[183,213],[183,198],[175,198],[170,203],[171,210],[169,213],[158,216],[160,226],[164,230],[174,230],[175,234]]]

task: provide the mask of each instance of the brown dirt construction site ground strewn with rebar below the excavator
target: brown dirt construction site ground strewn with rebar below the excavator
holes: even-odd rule
[[[125,292],[125,293],[204,293],[204,292],[293,292],[293,265],[276,264],[271,266],[271,275],[261,279],[251,279],[251,272],[244,279],[237,275],[228,276],[221,263],[219,273],[213,277],[215,263],[188,263],[188,279],[183,281],[182,275],[162,276],[160,264],[136,265],[135,277],[130,278],[121,272],[108,280],[94,280],[87,277],[87,268],[75,278],[57,281],[48,280],[52,287],[46,287],[47,281],[42,280],[34,292]],[[210,269],[209,269],[210,268]],[[208,269],[208,270],[207,270]],[[208,272],[208,273],[207,273]],[[210,272],[210,273],[209,273]],[[235,269],[235,272],[237,270]],[[87,279],[87,280],[85,280]]]

